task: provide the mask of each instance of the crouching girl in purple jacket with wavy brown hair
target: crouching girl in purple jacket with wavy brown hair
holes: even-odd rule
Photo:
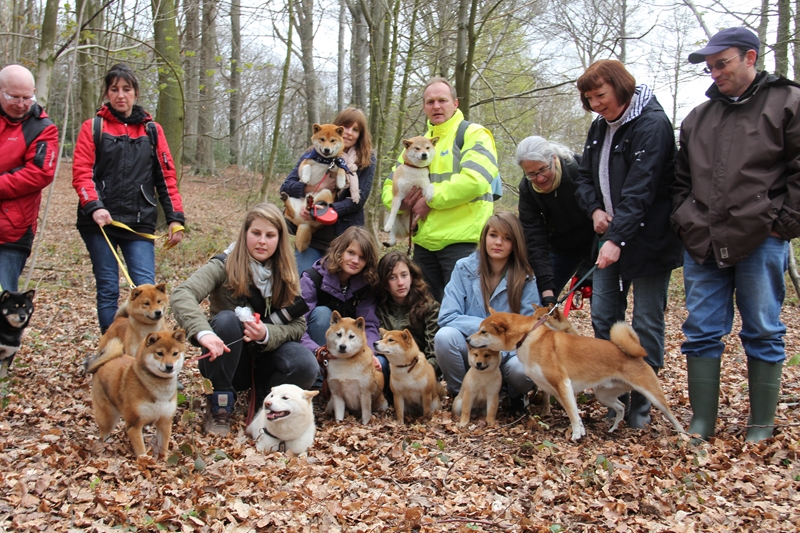
[[[370,350],[380,339],[375,314],[378,255],[375,237],[361,226],[351,226],[333,239],[325,257],[300,276],[303,300],[309,308],[302,343],[318,357],[323,352],[320,348],[327,344],[325,333],[334,311],[344,318],[364,318]],[[389,362],[383,356],[377,360],[386,374]]]

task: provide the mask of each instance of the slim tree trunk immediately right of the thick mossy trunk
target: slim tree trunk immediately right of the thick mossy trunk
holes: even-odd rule
[[[183,2],[183,80],[184,80],[184,123],[183,163],[197,164],[197,120],[200,100],[200,0]]]

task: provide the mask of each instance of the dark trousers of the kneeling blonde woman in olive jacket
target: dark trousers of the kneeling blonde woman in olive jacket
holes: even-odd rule
[[[299,342],[285,342],[271,352],[255,342],[240,340],[244,326],[233,311],[222,311],[211,319],[214,333],[230,352],[214,361],[201,359],[200,373],[211,381],[217,392],[236,392],[249,389],[255,382],[256,406],[261,405],[272,387],[292,384],[310,389],[319,372],[317,359],[311,350]],[[238,341],[238,342],[233,342]]]

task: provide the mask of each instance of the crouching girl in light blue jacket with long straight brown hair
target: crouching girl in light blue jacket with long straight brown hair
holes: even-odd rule
[[[489,307],[495,311],[533,314],[539,291],[525,253],[522,224],[512,213],[492,215],[481,232],[478,249],[459,259],[444,289],[439,332],[434,339],[436,360],[455,398],[469,368],[467,340],[478,331]],[[503,354],[503,384],[512,410],[522,407],[522,396],[533,388],[515,352]]]

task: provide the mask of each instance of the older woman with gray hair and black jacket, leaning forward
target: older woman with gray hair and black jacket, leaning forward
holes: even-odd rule
[[[569,148],[542,137],[526,137],[517,146],[525,173],[519,219],[543,305],[555,303],[576,270],[592,263],[592,220],[575,199],[579,163]]]

